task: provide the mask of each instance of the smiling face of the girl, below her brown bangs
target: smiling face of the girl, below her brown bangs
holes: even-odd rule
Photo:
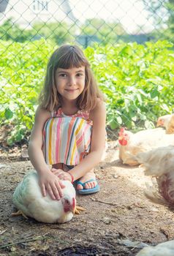
[[[85,67],[56,70],[56,87],[64,100],[75,100],[85,88]]]

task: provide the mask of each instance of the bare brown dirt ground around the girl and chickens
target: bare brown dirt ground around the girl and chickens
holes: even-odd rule
[[[18,160],[18,159],[17,159]],[[12,193],[31,163],[2,159],[0,162],[0,255],[136,255],[145,244],[174,237],[174,214],[151,203],[144,195],[140,167],[118,160],[116,142],[109,143],[105,162],[96,168],[101,191],[77,195],[86,208],[66,224],[44,224],[34,219],[11,217]],[[132,243],[136,242],[136,243]]]

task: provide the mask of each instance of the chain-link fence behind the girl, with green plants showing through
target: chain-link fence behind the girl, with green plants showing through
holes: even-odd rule
[[[173,21],[171,0],[0,0],[1,148],[28,142],[48,58],[64,43],[91,62],[109,138],[154,127],[173,112]]]

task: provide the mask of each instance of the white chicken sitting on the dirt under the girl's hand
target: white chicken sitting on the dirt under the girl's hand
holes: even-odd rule
[[[69,181],[62,181],[62,183],[65,187],[61,200],[52,200],[49,195],[43,197],[37,172],[31,170],[16,187],[12,202],[24,215],[38,222],[69,222],[75,214],[75,188]]]

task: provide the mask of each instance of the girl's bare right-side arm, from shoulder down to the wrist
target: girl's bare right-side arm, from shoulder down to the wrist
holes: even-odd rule
[[[102,159],[102,154],[105,150],[105,124],[106,110],[105,103],[98,100],[96,108],[91,111],[90,118],[93,121],[92,136],[91,136],[91,151],[90,153],[69,173],[74,176],[74,179],[81,178],[89,170],[93,169]]]

